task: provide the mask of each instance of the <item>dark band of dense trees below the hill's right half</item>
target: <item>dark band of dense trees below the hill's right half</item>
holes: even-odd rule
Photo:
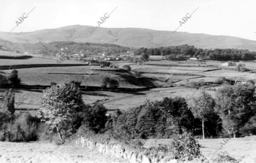
[[[178,45],[169,47],[145,48],[141,47],[134,50],[135,55],[142,53],[148,55],[166,56],[168,60],[184,60],[186,57],[209,57],[211,60],[254,60],[256,52],[242,49],[200,49],[190,45]]]

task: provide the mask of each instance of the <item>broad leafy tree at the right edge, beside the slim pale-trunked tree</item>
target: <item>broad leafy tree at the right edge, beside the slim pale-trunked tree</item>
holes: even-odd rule
[[[223,119],[223,128],[233,137],[256,113],[254,92],[251,83],[225,86],[217,92],[216,109]]]

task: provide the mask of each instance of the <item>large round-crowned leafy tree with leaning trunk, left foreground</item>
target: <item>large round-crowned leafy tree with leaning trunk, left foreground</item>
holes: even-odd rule
[[[73,129],[73,123],[85,108],[81,90],[74,83],[58,83],[43,91],[43,98],[36,115],[56,130],[61,141],[66,130]]]

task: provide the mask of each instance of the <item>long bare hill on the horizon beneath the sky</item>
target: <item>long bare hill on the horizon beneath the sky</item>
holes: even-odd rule
[[[50,43],[74,41],[90,43],[111,43],[126,47],[157,47],[171,45],[194,45],[198,48],[241,48],[256,51],[256,41],[224,35],[155,31],[142,28],[101,28],[94,26],[65,26],[27,33],[0,32],[0,38],[16,43]],[[93,31],[92,34],[90,34]]]

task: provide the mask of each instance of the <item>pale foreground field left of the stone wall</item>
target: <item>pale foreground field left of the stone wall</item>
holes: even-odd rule
[[[102,156],[80,146],[53,143],[0,142],[0,163],[123,163],[111,156]],[[52,152],[53,151],[53,152]],[[50,154],[52,152],[52,154]]]

